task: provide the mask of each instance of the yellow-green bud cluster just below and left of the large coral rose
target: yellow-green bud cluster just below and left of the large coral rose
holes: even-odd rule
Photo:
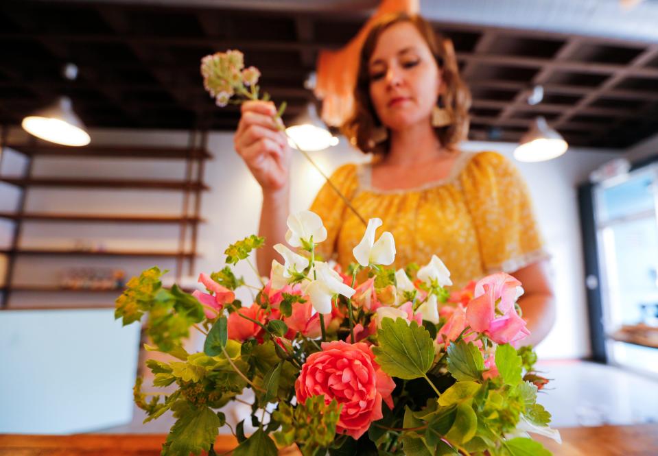
[[[303,404],[292,407],[281,402],[272,418],[281,422],[281,431],[274,433],[280,445],[300,444],[304,455],[320,455],[336,438],[336,423],[340,405],[334,399],[325,404],[325,396],[311,396]]]

